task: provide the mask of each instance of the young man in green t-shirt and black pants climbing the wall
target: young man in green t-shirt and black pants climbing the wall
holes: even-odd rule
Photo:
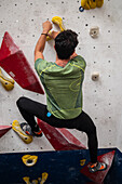
[[[42,24],[43,31],[35,49],[35,67],[46,93],[46,104],[35,102],[27,97],[17,101],[18,109],[27,121],[23,130],[41,136],[42,131],[35,117],[55,128],[77,129],[87,135],[87,145],[91,156],[91,172],[103,171],[106,163],[97,161],[96,127],[92,119],[82,110],[82,83],[84,79],[85,61],[76,53],[78,35],[72,30],[60,34],[53,31],[50,37],[55,41],[56,61],[46,62],[43,56],[46,36],[52,24],[46,21]],[[29,124],[29,126],[28,126]]]

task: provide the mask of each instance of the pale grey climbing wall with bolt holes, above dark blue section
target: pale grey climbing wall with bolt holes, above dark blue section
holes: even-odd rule
[[[97,127],[99,147],[118,147],[122,150],[122,2],[106,0],[103,8],[79,11],[79,0],[0,0],[0,43],[8,31],[33,67],[33,50],[42,31],[42,23],[53,16],[63,18],[66,29],[79,35],[77,53],[82,55],[87,67],[83,84],[83,110]],[[97,38],[90,36],[90,29],[99,28]],[[59,30],[53,26],[54,30]],[[55,61],[54,42],[46,43],[44,56]],[[2,69],[4,76],[10,76]],[[92,76],[97,74],[95,80]],[[24,90],[15,82],[13,90],[6,91],[0,83],[0,126],[11,126],[13,120],[24,121],[16,107],[21,96],[31,97],[45,104],[45,95]],[[86,135],[77,130],[70,132],[85,146]],[[25,144],[10,130],[0,137],[0,152],[53,150],[48,139],[33,139]]]

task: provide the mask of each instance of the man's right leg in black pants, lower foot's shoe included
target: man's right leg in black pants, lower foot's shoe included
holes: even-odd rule
[[[79,118],[81,121],[79,121]],[[97,147],[98,147],[98,141],[96,135],[96,127],[94,126],[94,122],[90,118],[89,115],[86,115],[84,111],[81,113],[81,115],[77,118],[77,129],[84,131],[87,134],[87,144],[90,149],[90,156],[91,156],[91,162],[92,165],[89,166],[91,172],[96,171],[103,171],[107,169],[107,165],[104,162],[97,161]]]

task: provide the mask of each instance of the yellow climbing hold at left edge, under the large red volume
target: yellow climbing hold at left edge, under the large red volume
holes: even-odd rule
[[[3,74],[2,74],[2,70],[0,69],[0,82],[2,83],[3,88],[6,90],[6,91],[10,91],[14,88],[14,80],[11,79],[11,78],[8,78],[5,77]]]

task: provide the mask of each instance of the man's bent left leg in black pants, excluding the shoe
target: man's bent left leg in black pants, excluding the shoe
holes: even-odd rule
[[[67,126],[67,120],[58,119],[53,115],[51,115],[51,117],[48,117],[48,109],[46,105],[44,104],[24,96],[19,97],[16,104],[23,118],[27,121],[27,123],[31,127],[31,130],[35,132],[39,130],[39,126],[37,124],[35,117],[45,121],[46,123],[55,128],[66,128]]]

